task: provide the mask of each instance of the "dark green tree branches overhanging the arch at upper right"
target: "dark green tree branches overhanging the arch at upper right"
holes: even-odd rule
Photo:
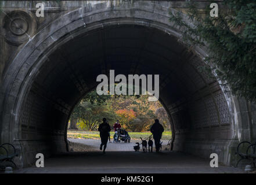
[[[256,99],[256,1],[225,0],[218,17],[210,17],[210,5],[201,16],[196,2],[189,3],[191,27],[181,13],[170,13],[170,20],[182,30],[189,47],[207,46],[208,71],[228,82],[234,95]]]

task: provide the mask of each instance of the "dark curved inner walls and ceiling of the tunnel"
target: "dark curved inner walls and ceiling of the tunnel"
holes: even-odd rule
[[[18,125],[10,125],[13,135],[3,138],[15,138],[21,166],[33,165],[36,153],[48,157],[68,151],[67,123],[74,106],[96,87],[96,77],[110,69],[125,76],[160,76],[159,99],[171,120],[172,150],[205,158],[215,152],[225,158],[233,136],[225,94],[212,74],[199,70],[206,65],[201,58],[175,36],[125,23],[85,33],[77,29],[75,36],[61,39],[37,59],[44,62],[26,73],[27,88],[19,92],[19,117],[14,118]]]

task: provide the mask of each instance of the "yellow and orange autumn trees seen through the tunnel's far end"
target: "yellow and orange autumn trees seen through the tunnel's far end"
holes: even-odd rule
[[[106,117],[112,125],[118,119],[122,128],[128,131],[149,131],[154,119],[158,118],[156,110],[160,102],[149,102],[149,95],[107,95],[99,96],[96,91],[82,98],[71,114],[70,121],[75,119],[80,129],[95,130],[102,118]],[[164,111],[164,110],[163,110]],[[164,125],[167,125],[168,115],[161,115]],[[164,118],[164,116],[167,116]],[[161,120],[161,117],[160,117]],[[70,124],[70,128],[71,124]]]

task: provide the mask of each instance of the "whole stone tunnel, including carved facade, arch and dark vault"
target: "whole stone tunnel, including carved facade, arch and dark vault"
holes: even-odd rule
[[[35,17],[33,1],[1,3],[0,143],[17,147],[19,166],[68,151],[74,106],[110,69],[160,75],[172,150],[217,153],[232,165],[237,144],[256,139],[256,106],[200,71],[207,49],[188,50],[170,22],[183,1],[48,2],[45,17]]]

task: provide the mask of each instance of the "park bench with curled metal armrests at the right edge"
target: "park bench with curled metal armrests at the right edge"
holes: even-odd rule
[[[237,161],[236,167],[239,164],[241,160],[248,160],[251,163],[251,166],[255,168],[256,164],[256,142],[255,143],[250,143],[248,141],[244,141],[239,143],[237,145],[237,151],[236,154],[240,157],[240,159]]]

